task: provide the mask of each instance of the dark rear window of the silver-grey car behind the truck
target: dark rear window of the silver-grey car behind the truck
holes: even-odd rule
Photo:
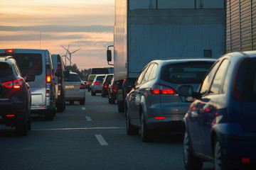
[[[214,62],[183,62],[161,69],[161,79],[174,84],[200,84]]]

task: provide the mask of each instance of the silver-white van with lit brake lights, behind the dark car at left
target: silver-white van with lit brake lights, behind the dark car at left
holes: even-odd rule
[[[31,113],[45,115],[46,120],[53,120],[55,83],[50,52],[33,49],[0,49],[0,54],[0,56],[13,56],[23,76],[35,74],[35,81],[28,83],[31,87]]]

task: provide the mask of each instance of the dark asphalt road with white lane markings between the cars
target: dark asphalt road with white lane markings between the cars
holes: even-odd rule
[[[150,143],[128,136],[124,113],[100,94],[86,92],[85,105],[67,103],[52,121],[33,115],[26,137],[0,128],[0,170],[184,169],[181,134],[164,133]]]

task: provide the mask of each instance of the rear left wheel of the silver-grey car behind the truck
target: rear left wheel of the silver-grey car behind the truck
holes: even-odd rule
[[[141,115],[141,138],[142,142],[152,142],[154,140],[153,132],[146,127],[144,113]]]

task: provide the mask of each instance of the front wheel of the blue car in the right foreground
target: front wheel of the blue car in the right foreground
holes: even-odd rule
[[[183,137],[183,162],[186,170],[200,170],[203,166],[203,160],[193,155],[188,132],[185,132]]]

